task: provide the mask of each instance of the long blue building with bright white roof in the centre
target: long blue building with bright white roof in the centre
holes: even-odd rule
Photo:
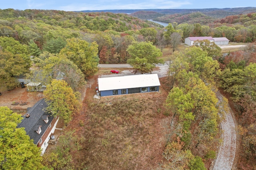
[[[159,78],[157,74],[137,74],[98,78],[100,96],[121,94],[159,92]]]

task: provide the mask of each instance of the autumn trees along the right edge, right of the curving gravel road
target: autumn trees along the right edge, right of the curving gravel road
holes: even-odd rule
[[[242,51],[229,53],[220,61],[220,88],[230,95],[241,137],[237,168],[255,169],[256,158],[256,43]]]

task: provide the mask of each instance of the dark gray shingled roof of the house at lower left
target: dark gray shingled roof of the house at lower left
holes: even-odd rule
[[[18,124],[19,127],[25,127],[25,131],[27,135],[30,136],[30,139],[34,139],[34,144],[37,144],[38,141],[41,139],[42,135],[44,135],[47,127],[50,125],[52,120],[54,119],[53,116],[50,116],[51,114],[48,112],[45,112],[45,108],[47,107],[46,102],[44,99],[41,99],[38,101],[33,107],[31,107],[28,110],[28,114],[30,114],[30,117],[26,118],[25,115],[23,116],[23,119],[21,123]],[[48,115],[48,123],[45,123],[45,121],[42,119],[42,116]],[[41,133],[38,134],[36,131],[34,131],[34,127],[41,126]]]

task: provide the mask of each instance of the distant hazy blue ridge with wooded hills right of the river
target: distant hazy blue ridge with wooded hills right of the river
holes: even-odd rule
[[[126,13],[142,20],[154,20],[165,23],[200,23],[208,25],[215,20],[228,16],[256,13],[256,7],[245,8],[205,8],[205,9],[148,9],[148,10],[94,10],[81,12]]]

